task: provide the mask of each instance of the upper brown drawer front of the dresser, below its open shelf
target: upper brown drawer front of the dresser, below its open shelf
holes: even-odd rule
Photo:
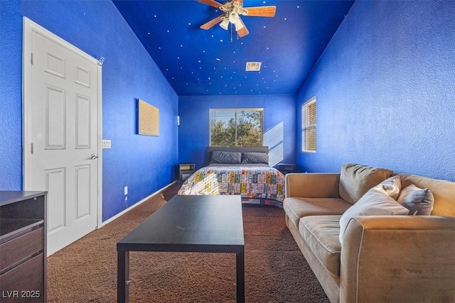
[[[0,271],[43,250],[43,227],[0,245]]]

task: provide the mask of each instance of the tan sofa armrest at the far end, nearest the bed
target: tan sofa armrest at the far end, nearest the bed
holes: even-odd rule
[[[286,197],[339,198],[339,173],[290,173],[286,175]]]

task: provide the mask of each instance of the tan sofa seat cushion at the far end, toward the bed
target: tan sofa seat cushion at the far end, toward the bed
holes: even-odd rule
[[[304,216],[341,215],[350,204],[339,198],[300,198],[289,197],[284,199],[284,212],[296,228],[299,220]]]

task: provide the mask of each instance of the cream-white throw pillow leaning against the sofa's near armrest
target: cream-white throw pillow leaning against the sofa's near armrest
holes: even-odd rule
[[[350,206],[340,219],[340,243],[343,243],[344,232],[351,218],[355,216],[384,216],[384,215],[406,215],[410,210],[396,202],[390,197],[397,197],[400,189],[397,183],[398,176],[390,177],[384,182],[368,190],[357,203]],[[401,187],[401,182],[400,182]]]

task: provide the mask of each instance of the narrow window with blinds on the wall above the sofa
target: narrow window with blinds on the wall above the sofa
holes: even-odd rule
[[[316,97],[301,105],[301,151],[316,153]]]

